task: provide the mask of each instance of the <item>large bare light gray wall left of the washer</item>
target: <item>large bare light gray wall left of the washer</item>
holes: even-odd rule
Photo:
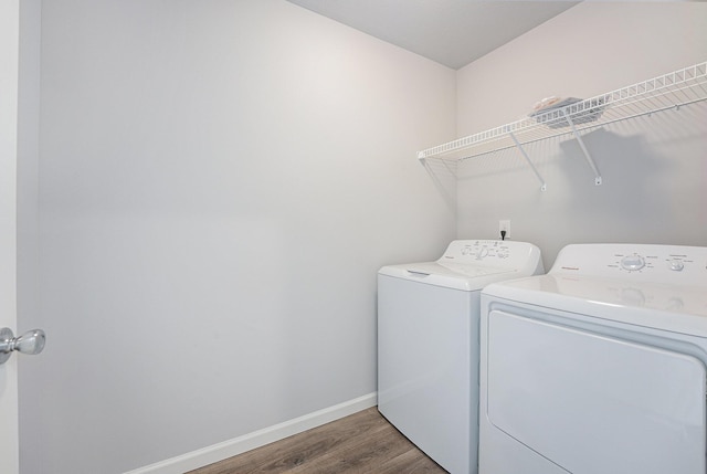
[[[125,472],[373,393],[377,270],[454,236],[414,158],[454,134],[454,71],[284,0],[42,9],[22,473]]]

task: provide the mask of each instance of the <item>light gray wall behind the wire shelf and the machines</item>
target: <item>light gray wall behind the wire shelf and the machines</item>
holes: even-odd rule
[[[515,122],[544,97],[592,97],[707,60],[707,3],[582,2],[458,73],[457,134]],[[466,160],[458,238],[538,244],[549,268],[569,243],[707,245],[707,107],[699,104],[527,147],[540,185],[511,149]]]

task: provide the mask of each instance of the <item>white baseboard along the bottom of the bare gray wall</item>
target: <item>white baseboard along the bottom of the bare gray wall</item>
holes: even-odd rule
[[[183,474],[205,465],[242,454],[255,447],[264,446],[275,441],[283,440],[293,434],[320,426],[330,421],[338,420],[367,408],[374,407],[378,400],[377,392],[359,397],[334,407],[325,408],[314,413],[305,414],[284,423],[264,428],[233,440],[192,451],[187,454],[160,461],[145,467],[129,471],[125,474]]]

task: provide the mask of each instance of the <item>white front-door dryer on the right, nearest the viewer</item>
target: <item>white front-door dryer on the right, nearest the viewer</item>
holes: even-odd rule
[[[481,336],[482,474],[705,474],[707,247],[568,245]]]

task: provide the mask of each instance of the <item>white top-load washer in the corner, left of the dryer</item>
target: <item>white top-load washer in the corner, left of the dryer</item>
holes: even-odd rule
[[[542,271],[535,245],[483,240],[379,271],[378,409],[453,474],[477,471],[481,289]]]

